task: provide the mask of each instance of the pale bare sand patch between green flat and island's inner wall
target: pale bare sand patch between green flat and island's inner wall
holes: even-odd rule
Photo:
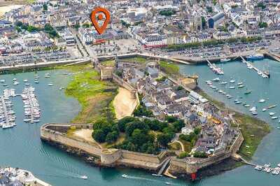
[[[132,98],[131,92],[123,87],[120,87],[117,96],[113,100],[116,118],[120,120],[125,116],[132,115],[136,104],[137,100]]]

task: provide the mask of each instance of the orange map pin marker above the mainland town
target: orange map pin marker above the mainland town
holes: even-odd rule
[[[102,24],[102,27],[99,27],[98,20],[103,20],[103,18],[104,18],[102,13],[105,15],[105,21]],[[96,16],[97,16],[97,18],[96,18]],[[111,15],[110,15],[109,11],[106,10],[105,8],[98,7],[92,11],[90,18],[91,18],[92,24],[93,24],[94,28],[97,30],[98,34],[103,34],[104,31],[106,30],[107,24],[110,22]]]

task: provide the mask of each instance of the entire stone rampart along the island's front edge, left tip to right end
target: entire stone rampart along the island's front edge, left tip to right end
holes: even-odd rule
[[[90,124],[43,124],[41,127],[41,140],[45,143],[62,148],[66,150],[66,152],[84,157],[85,161],[91,162],[96,166],[125,166],[158,173],[158,171],[162,169],[162,166],[165,165],[165,162],[169,161],[169,167],[165,167],[165,169],[167,168],[168,170],[165,175],[186,174],[188,176],[197,173],[197,171],[202,168],[235,156],[244,140],[243,136],[239,134],[229,150],[223,150],[206,159],[191,157],[187,159],[178,159],[176,157],[170,157],[167,151],[160,153],[160,155],[149,155],[128,150],[97,148],[88,141],[71,138],[66,135],[66,131],[69,129],[90,129],[91,127]]]

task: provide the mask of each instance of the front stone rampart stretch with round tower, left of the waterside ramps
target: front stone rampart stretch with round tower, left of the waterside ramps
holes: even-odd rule
[[[66,145],[70,148],[82,150],[88,155],[100,158],[103,166],[128,166],[147,170],[159,169],[167,157],[167,152],[160,155],[149,155],[128,150],[101,149],[87,141],[70,138],[66,135],[68,129],[89,129],[89,124],[43,124],[41,127],[41,140],[47,143]]]

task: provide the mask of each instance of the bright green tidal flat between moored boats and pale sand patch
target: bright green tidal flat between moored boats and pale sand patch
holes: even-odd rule
[[[80,72],[73,75],[73,80],[67,85],[65,91],[67,96],[73,96],[82,106],[82,110],[72,122],[92,123],[101,117],[113,119],[115,113],[111,102],[116,96],[117,86],[109,81],[99,80],[99,73],[90,65],[64,68]]]

